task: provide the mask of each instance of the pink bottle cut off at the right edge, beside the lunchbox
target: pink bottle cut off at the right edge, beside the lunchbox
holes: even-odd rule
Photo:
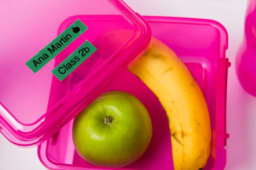
[[[256,0],[248,0],[244,37],[236,55],[236,74],[244,90],[256,97]]]

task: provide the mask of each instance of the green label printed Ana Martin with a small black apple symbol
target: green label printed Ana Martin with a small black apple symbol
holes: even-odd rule
[[[25,64],[36,73],[87,29],[87,26],[77,19]]]

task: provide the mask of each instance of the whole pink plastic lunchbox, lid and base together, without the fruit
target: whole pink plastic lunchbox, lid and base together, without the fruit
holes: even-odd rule
[[[212,151],[205,170],[226,164],[226,91],[230,63],[225,57],[228,34],[206,19],[140,16],[121,0],[57,0],[1,2],[0,130],[21,147],[38,146],[38,157],[49,169],[111,169],[92,166],[76,153],[74,117],[100,93],[121,90],[136,96],[148,109],[153,137],[147,151],[119,169],[173,169],[170,132],[156,96],[127,66],[147,48],[151,36],[169,46],[188,66],[201,87],[210,112]],[[25,63],[79,19],[88,30],[36,73]],[[52,70],[84,41],[94,44],[102,33],[129,30],[112,48],[108,40],[60,81]],[[157,111],[157,112],[156,112]],[[157,113],[157,114],[156,114]],[[161,126],[160,126],[161,125]],[[118,168],[117,168],[118,169]]]

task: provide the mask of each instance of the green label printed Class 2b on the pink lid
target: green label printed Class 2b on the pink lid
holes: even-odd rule
[[[78,47],[72,54],[63,60],[52,73],[62,81],[81,63],[83,63],[92,53],[97,50],[88,40]]]

